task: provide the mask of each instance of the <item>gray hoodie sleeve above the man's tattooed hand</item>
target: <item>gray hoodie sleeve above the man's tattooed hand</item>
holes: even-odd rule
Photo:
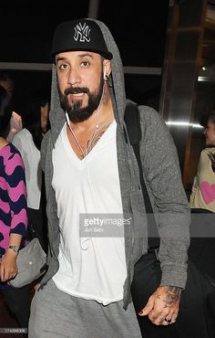
[[[178,153],[157,111],[140,113],[141,155],[155,217],[159,224],[161,285],[185,288],[189,248],[189,201],[181,182]]]

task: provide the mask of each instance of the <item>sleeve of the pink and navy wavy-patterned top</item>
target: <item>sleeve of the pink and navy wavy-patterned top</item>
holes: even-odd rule
[[[5,163],[7,193],[11,212],[11,234],[26,235],[27,201],[25,167],[19,152],[11,154]]]

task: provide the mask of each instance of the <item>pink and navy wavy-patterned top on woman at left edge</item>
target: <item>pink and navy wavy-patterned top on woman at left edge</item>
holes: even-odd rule
[[[0,150],[0,261],[10,234],[26,236],[26,177],[22,157],[12,143]]]

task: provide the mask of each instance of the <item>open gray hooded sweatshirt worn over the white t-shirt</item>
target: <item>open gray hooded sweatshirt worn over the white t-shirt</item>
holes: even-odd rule
[[[123,126],[127,103],[124,73],[118,47],[107,26],[95,20],[100,26],[113,54],[112,74],[109,78],[111,98],[117,121],[118,172],[124,217],[133,216],[133,222],[125,227],[125,254],[127,279],[124,283],[124,309],[131,301],[130,284],[134,264],[148,250],[147,218],[138,179],[138,164],[129,143],[126,143]],[[185,288],[187,280],[187,250],[189,248],[189,203],[181,183],[178,154],[165,122],[159,113],[147,106],[139,106],[142,139],[141,161],[148,188],[148,195],[159,224],[159,259],[162,269],[160,285]],[[65,123],[65,111],[61,108],[57,90],[56,66],[53,65],[50,124],[42,143],[41,157],[46,177],[46,213],[48,218],[49,250],[48,269],[41,288],[56,274],[59,267],[59,226],[55,191],[52,187],[52,151],[56,139]],[[72,210],[71,210],[72,212]]]

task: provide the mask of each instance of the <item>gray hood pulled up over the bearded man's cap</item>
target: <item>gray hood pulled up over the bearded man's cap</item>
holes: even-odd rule
[[[118,46],[114,38],[112,37],[109,29],[104,23],[91,18],[87,18],[87,20],[95,21],[100,27],[107,45],[107,49],[113,55],[113,58],[111,59],[112,73],[108,79],[108,84],[110,88],[111,99],[113,102],[115,118],[118,122],[119,129],[121,130],[121,132],[123,132],[126,93],[123,65],[118,51]],[[49,113],[49,119],[51,124],[52,140],[55,144],[56,139],[66,121],[65,111],[61,108],[59,94],[57,90],[57,76],[55,64],[53,64],[52,66],[51,108]]]

